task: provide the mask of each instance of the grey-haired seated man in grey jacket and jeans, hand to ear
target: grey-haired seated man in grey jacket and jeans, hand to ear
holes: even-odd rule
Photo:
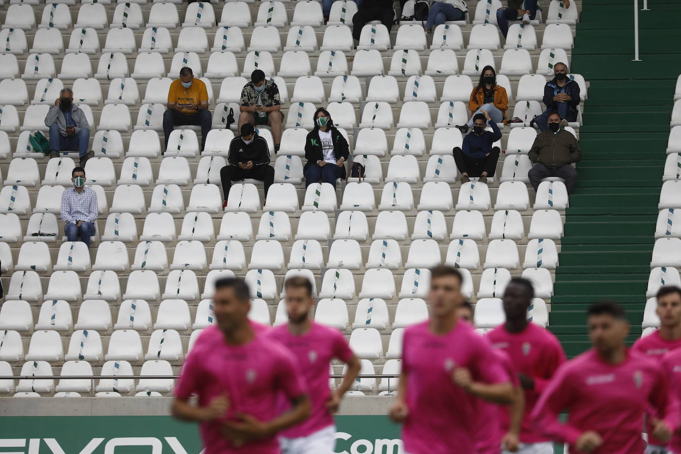
[[[59,157],[59,152],[76,151],[80,155],[80,166],[93,157],[89,149],[90,125],[83,112],[74,104],[74,92],[63,88],[45,117],[45,126],[50,128],[50,158]]]

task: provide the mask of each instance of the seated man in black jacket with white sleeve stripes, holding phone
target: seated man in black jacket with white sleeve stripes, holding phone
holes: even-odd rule
[[[227,206],[229,189],[234,180],[253,178],[265,184],[265,197],[274,183],[274,167],[270,165],[270,150],[267,141],[255,133],[251,123],[241,127],[241,135],[234,137],[229,143],[227,165],[220,169],[222,180],[222,192],[225,202],[222,208]]]

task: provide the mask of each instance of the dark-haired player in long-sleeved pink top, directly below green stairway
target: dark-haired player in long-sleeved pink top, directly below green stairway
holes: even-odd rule
[[[588,327],[594,348],[558,368],[533,410],[537,431],[569,443],[571,454],[642,453],[643,415],[652,407],[652,434],[668,441],[678,413],[667,376],[659,363],[625,346],[629,322],[622,306],[592,305]],[[558,419],[563,410],[567,423]]]

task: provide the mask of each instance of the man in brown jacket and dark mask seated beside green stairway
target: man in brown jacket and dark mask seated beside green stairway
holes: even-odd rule
[[[527,174],[535,192],[543,178],[563,178],[568,195],[572,193],[577,181],[577,170],[571,164],[582,159],[582,149],[575,136],[570,131],[565,131],[561,122],[560,115],[556,112],[550,114],[548,130],[537,134],[528,153],[530,161],[535,163]]]

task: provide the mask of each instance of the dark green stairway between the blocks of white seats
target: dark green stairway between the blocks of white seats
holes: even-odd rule
[[[571,71],[590,83],[580,128],[583,155],[566,211],[550,313],[550,329],[569,357],[590,346],[584,311],[600,299],[626,306],[631,342],[641,333],[681,74],[681,2],[650,0],[649,7],[639,12],[642,61],[635,62],[631,1],[582,2]]]

